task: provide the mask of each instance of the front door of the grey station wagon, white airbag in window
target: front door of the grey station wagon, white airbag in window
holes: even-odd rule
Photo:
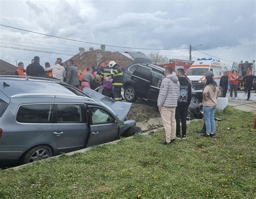
[[[101,106],[88,106],[90,135],[86,147],[108,143],[117,138],[119,126],[112,114]]]

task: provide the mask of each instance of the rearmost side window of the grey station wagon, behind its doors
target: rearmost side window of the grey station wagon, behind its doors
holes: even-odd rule
[[[21,123],[50,123],[52,107],[52,104],[21,105],[16,120]]]

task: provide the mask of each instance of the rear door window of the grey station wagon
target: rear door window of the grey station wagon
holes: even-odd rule
[[[84,123],[83,105],[57,104],[57,123]]]

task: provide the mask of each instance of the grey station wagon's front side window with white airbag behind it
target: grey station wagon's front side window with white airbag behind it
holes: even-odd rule
[[[106,110],[99,107],[90,107],[91,124],[112,124],[116,122],[116,119]]]

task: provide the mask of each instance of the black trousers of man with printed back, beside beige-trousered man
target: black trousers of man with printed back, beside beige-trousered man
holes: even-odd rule
[[[183,104],[183,105],[178,105],[176,107],[176,112],[175,112],[175,119],[176,119],[176,136],[180,136],[180,121],[181,121],[181,129],[182,129],[182,135],[186,135],[187,131],[187,109],[188,105]]]

